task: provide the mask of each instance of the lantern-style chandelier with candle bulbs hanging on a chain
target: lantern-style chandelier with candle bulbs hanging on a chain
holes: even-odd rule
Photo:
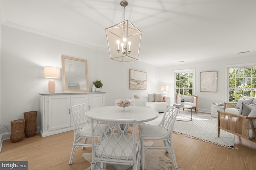
[[[128,6],[126,0],[122,0],[120,5]],[[141,31],[132,25],[128,20],[106,28],[108,49],[110,59],[120,62],[138,60],[140,50]]]

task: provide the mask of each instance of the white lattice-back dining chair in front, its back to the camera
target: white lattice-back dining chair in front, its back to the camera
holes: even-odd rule
[[[91,169],[106,169],[106,164],[121,169],[133,166],[139,170],[140,140],[136,136],[135,119],[100,119],[91,117],[96,126],[92,126],[92,164]],[[104,126],[102,126],[102,123]],[[125,130],[132,131],[126,134]],[[102,129],[102,134],[97,134],[96,128]],[[116,132],[118,129],[118,132]]]

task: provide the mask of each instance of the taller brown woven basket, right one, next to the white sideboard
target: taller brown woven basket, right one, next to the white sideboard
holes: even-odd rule
[[[36,115],[37,111],[25,112],[24,119],[25,121],[25,135],[27,138],[36,135]]]

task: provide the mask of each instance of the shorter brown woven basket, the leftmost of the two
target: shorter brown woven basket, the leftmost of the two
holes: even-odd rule
[[[19,142],[25,137],[24,129],[25,129],[25,120],[19,119],[15,121],[11,121],[11,136],[10,140],[12,142]]]

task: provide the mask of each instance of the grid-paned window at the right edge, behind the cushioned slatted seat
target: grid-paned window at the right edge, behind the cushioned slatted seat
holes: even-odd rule
[[[243,96],[256,97],[256,66],[228,68],[229,102]]]

